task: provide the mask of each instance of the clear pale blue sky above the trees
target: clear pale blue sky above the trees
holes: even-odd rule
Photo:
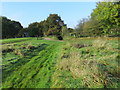
[[[49,14],[58,14],[69,28],[75,28],[95,7],[96,2],[2,2],[1,16],[28,27],[33,22],[45,20]]]

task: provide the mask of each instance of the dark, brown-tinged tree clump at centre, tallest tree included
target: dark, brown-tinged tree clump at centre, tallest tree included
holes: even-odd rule
[[[62,33],[63,25],[64,21],[58,14],[50,14],[44,21],[31,23],[27,30],[29,36],[59,36]]]

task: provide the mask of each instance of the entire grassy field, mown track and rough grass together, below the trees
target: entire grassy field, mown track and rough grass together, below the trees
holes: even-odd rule
[[[1,46],[3,88],[120,87],[118,38],[31,38]]]

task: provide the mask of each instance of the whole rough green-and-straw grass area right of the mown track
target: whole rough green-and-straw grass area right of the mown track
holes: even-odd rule
[[[68,41],[56,65],[52,88],[118,88],[118,44],[102,39]]]

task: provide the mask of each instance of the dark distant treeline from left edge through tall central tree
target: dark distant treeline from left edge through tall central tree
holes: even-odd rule
[[[50,14],[49,17],[41,22],[31,23],[27,28],[23,28],[19,22],[11,21],[6,17],[2,19],[2,38],[14,37],[42,37],[51,36],[63,37],[65,30],[69,33],[73,31],[72,28],[67,28],[64,21],[58,14]],[[66,33],[65,33],[66,34]]]

